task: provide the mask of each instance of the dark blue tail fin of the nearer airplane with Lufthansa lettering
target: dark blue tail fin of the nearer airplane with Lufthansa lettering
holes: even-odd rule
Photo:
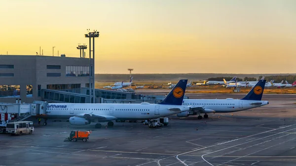
[[[168,104],[168,105],[182,105],[186,85],[186,79],[182,79],[178,82],[178,84],[173,88],[173,90],[169,93],[169,95],[159,104]]]

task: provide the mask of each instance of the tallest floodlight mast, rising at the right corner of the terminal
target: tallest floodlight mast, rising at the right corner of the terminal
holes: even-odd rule
[[[97,30],[94,32],[89,32],[90,29],[87,29],[88,33],[84,34],[85,37],[89,38],[89,101],[91,103],[91,88],[93,88],[93,103],[95,103],[95,37],[99,37],[99,32]],[[91,38],[93,38],[93,50],[91,50]],[[93,66],[91,62],[91,52],[93,52]],[[93,78],[93,81],[91,81],[91,76]],[[91,85],[91,83],[93,83]]]

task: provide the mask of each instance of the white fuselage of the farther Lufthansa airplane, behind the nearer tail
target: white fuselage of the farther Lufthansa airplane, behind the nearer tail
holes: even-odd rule
[[[212,109],[217,113],[236,112],[256,108],[268,104],[263,100],[234,100],[234,99],[184,99],[183,105],[200,106]],[[256,104],[262,102],[261,104]],[[252,104],[253,103],[253,104]]]

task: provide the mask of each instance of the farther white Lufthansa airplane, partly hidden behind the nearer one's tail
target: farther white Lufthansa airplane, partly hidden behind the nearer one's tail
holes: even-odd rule
[[[226,113],[243,111],[246,109],[260,107],[269,104],[268,101],[261,100],[266,80],[259,80],[251,91],[243,99],[184,99],[183,105],[190,106],[189,111],[178,113],[178,117],[199,115],[197,119],[208,118],[208,113]]]

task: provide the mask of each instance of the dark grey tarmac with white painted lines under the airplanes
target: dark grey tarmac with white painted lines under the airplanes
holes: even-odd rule
[[[140,121],[95,129],[53,120],[38,126],[33,119],[32,135],[0,134],[0,166],[296,166],[296,95],[262,100],[270,104],[202,120],[171,116],[168,126],[154,129]],[[89,141],[64,142],[72,130],[91,130]]]

